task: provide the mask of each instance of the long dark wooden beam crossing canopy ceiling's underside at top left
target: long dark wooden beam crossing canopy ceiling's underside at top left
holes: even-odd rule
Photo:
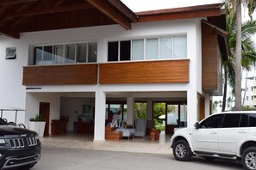
[[[69,6],[65,6],[65,7],[42,8],[42,9],[36,9],[36,10],[17,12],[17,13],[9,15],[8,17],[16,18],[16,17],[30,16],[30,15],[44,15],[44,14],[68,12],[68,11],[91,9],[91,8],[92,7],[90,4],[83,3],[83,4],[76,4],[76,5],[69,5]]]

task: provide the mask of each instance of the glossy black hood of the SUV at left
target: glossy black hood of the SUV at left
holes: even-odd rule
[[[24,128],[12,126],[12,125],[0,125],[0,137],[6,136],[21,136],[21,135],[33,136],[34,131],[30,131]]]

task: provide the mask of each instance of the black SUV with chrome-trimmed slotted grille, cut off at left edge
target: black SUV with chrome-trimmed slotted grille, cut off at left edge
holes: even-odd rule
[[[41,142],[37,133],[9,125],[0,118],[0,169],[30,169],[40,158]]]

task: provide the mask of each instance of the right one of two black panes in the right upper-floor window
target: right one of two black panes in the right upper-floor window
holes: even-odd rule
[[[131,60],[131,41],[120,42],[120,61]]]

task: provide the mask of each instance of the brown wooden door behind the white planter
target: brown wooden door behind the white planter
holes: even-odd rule
[[[44,136],[49,136],[49,122],[50,122],[50,103],[40,102],[39,104],[39,116],[46,118],[46,127]]]

